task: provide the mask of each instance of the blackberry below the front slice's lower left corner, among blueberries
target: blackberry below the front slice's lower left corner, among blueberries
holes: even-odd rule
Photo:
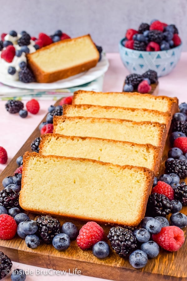
[[[39,238],[46,244],[52,243],[56,234],[60,233],[60,222],[50,215],[44,215],[36,219]]]

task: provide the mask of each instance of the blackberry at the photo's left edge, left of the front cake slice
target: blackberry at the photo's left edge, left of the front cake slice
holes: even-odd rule
[[[19,205],[19,192],[14,191],[11,188],[1,190],[0,205],[4,206],[7,210],[14,207],[21,209]]]

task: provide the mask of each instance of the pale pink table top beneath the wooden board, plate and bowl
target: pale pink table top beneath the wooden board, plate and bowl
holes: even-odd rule
[[[129,74],[127,69],[123,66],[118,53],[108,53],[109,69],[105,73],[103,91],[122,91],[123,82],[125,77]],[[187,102],[186,98],[186,69],[187,69],[187,52],[181,54],[180,61],[175,69],[167,76],[159,78],[159,95],[178,97],[179,103]],[[6,165],[11,161],[13,156],[22,147],[32,131],[37,125],[41,123],[41,120],[47,113],[47,109],[50,105],[54,104],[53,100],[41,100],[40,111],[36,115],[29,114],[27,118],[21,118],[18,114],[12,115],[5,110],[6,101],[0,100],[0,146],[3,146],[7,150],[8,161],[6,164],[0,164],[0,173],[5,169]],[[23,103],[25,104],[26,101]],[[6,254],[6,253],[5,253]],[[26,280],[62,280],[62,277],[57,274],[44,274],[44,269],[36,268],[30,265],[23,265],[13,262],[13,269],[21,268],[27,270],[33,270],[33,274],[27,275]],[[38,270],[38,271],[37,271]],[[38,272],[38,274],[36,274]],[[42,277],[41,277],[42,276]],[[10,275],[7,275],[4,280],[11,280]],[[104,280],[93,277],[87,277],[83,275],[70,275],[66,273],[63,276],[63,280]]]

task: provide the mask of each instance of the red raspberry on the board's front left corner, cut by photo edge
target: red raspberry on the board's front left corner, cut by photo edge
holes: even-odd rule
[[[16,235],[17,223],[8,214],[0,214],[0,239],[12,239]]]

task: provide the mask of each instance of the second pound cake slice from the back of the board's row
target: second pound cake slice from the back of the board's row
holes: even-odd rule
[[[166,124],[166,128],[170,127],[172,118],[169,111],[86,104],[63,105],[63,114],[66,116],[127,119],[137,122],[159,122]]]

